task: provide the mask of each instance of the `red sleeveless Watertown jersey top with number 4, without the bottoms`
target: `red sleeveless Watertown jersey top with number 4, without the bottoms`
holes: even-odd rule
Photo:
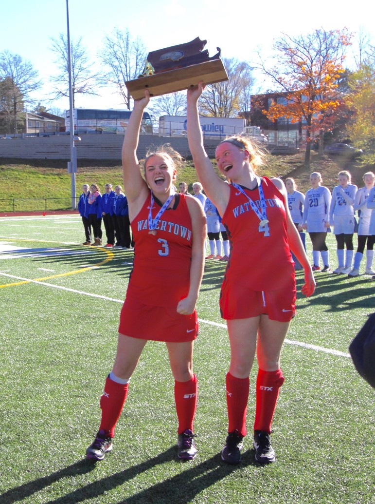
[[[259,227],[260,219],[246,196],[229,186],[230,197],[222,221],[232,248],[224,282],[256,291],[283,289],[295,284],[284,197],[269,178],[261,180],[269,221],[263,227]],[[253,190],[242,188],[261,211],[258,186]]]

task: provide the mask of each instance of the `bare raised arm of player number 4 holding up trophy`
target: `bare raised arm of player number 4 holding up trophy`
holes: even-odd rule
[[[198,99],[203,92],[204,86],[200,82],[197,87],[188,89],[188,141],[190,152],[198,173],[198,177],[204,187],[205,193],[223,215],[229,201],[228,184],[221,180],[205,151],[203,136],[199,122]]]

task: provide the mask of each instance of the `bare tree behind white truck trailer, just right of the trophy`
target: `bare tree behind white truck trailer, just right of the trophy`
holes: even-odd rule
[[[236,117],[247,107],[247,94],[253,83],[251,69],[244,61],[223,58],[229,81],[210,84],[200,100],[200,114],[209,117]]]

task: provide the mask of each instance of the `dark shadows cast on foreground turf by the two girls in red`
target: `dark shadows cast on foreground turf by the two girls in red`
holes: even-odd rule
[[[124,483],[131,482],[137,475],[152,470],[156,465],[175,460],[176,447],[173,446],[150,460],[89,483],[57,499],[49,500],[46,504],[71,504],[72,502],[82,502],[89,498],[100,497],[104,493]],[[248,450],[243,454],[242,463],[240,465],[228,465],[223,463],[220,454],[198,465],[191,465],[195,464],[195,462],[189,463],[181,461],[180,463],[184,464],[186,470],[160,483],[156,483],[125,500],[120,500],[118,504],[144,504],[145,502],[157,502],[158,504],[178,502],[178,504],[187,504],[200,492],[214,485],[232,472],[250,465],[259,466],[259,464],[254,461],[252,450]],[[12,504],[13,502],[30,497],[36,492],[51,486],[56,481],[69,477],[74,478],[77,475],[86,474],[95,468],[95,462],[82,460],[53,474],[8,490],[0,495],[0,501],[4,502],[4,504]]]

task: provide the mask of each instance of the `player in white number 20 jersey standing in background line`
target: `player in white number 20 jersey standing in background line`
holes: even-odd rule
[[[320,270],[321,256],[324,266],[322,271],[325,272],[330,271],[326,237],[329,229],[331,193],[328,187],[320,185],[321,182],[322,175],[314,171],[310,175],[312,188],[306,193],[301,227],[307,229],[313,244],[313,271]]]

